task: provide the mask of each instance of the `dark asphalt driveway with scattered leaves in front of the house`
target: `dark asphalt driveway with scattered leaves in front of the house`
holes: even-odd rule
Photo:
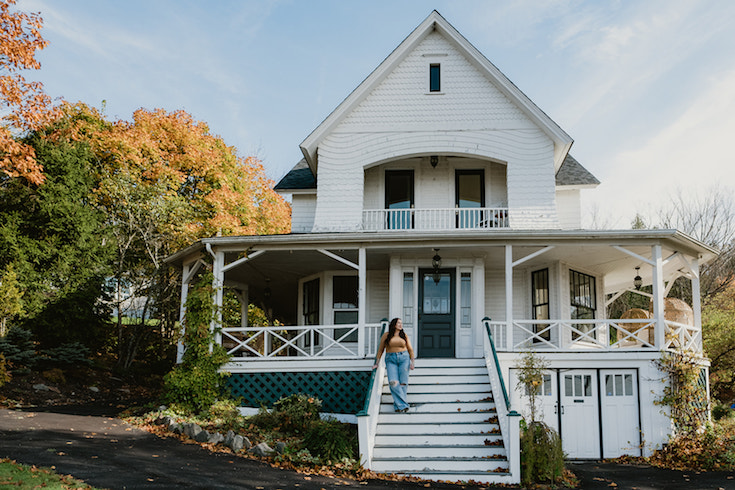
[[[357,482],[304,475],[196,444],[159,438],[120,419],[0,409],[0,457],[54,467],[110,489],[482,488],[437,482]],[[735,490],[735,474],[661,470],[611,463],[571,463],[584,489]]]

